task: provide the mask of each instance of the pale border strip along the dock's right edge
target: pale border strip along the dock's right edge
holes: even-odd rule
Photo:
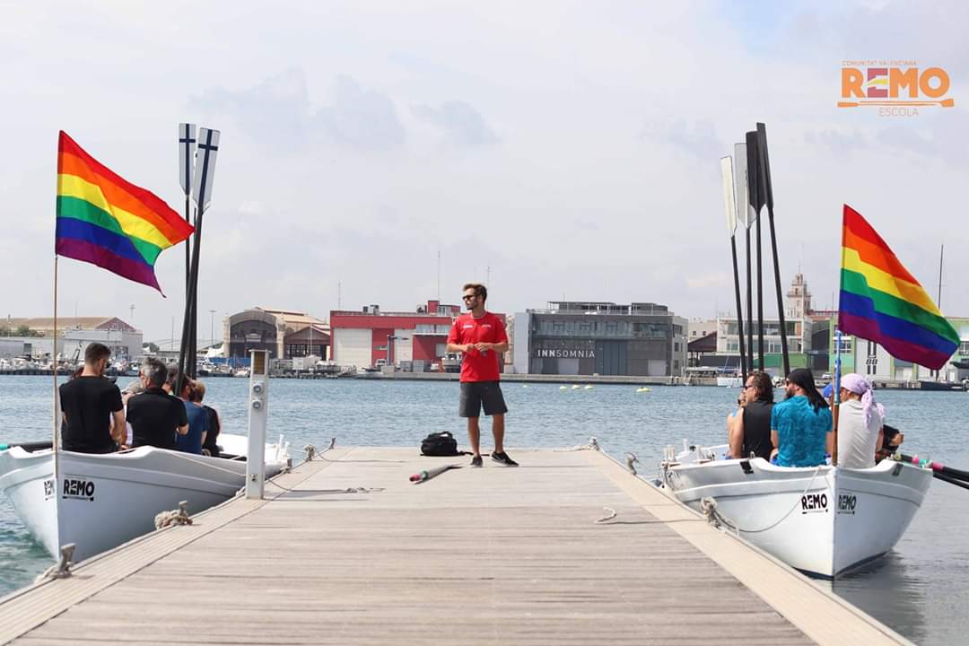
[[[657,519],[727,570],[752,593],[765,600],[798,630],[819,644],[909,644],[892,631],[797,569],[782,563],[743,538],[716,529],[703,514],[634,476],[605,453],[585,451],[610,480]],[[700,522],[684,522],[700,521]]]

